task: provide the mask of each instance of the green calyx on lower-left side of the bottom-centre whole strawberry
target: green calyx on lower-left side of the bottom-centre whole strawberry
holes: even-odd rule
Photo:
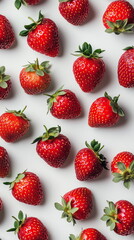
[[[71,206],[71,200],[69,202],[66,202],[64,198],[61,199],[61,204],[55,203],[55,208],[59,211],[62,211],[62,218],[66,218],[67,222],[73,222],[73,225],[76,224],[76,221],[74,219],[74,213],[78,211],[78,208],[72,208]]]

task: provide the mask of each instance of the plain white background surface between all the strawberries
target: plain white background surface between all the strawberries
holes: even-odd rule
[[[117,63],[123,53],[122,49],[134,44],[134,35],[114,35],[104,32],[102,15],[111,2],[109,0],[90,0],[91,12],[88,23],[77,27],[69,24],[58,11],[58,0],[46,0],[42,4],[33,7],[24,7],[18,11],[12,1],[0,1],[0,13],[5,15],[12,23],[16,34],[16,44],[9,50],[0,50],[0,66],[5,65],[7,74],[11,75],[12,93],[7,100],[0,102],[0,114],[8,109],[22,109],[27,105],[25,113],[31,119],[31,130],[27,136],[16,143],[6,143],[0,139],[0,145],[5,147],[11,159],[11,175],[4,179],[13,180],[18,172],[28,169],[36,173],[43,184],[45,191],[45,201],[40,206],[30,206],[15,200],[8,190],[8,186],[0,184],[0,197],[4,203],[4,213],[0,220],[0,238],[2,240],[14,240],[17,236],[13,233],[6,233],[6,230],[13,226],[12,215],[17,216],[21,209],[28,216],[38,217],[48,228],[50,239],[68,239],[70,233],[78,235],[83,228],[94,227],[100,230],[108,240],[132,240],[133,236],[122,237],[114,232],[110,232],[105,226],[105,222],[100,220],[103,208],[107,205],[106,200],[114,202],[126,199],[131,202],[134,186],[130,190],[123,187],[122,183],[112,182],[110,171],[104,171],[102,175],[94,181],[80,182],[75,177],[73,160],[76,153],[84,147],[85,140],[96,139],[105,145],[102,153],[107,157],[110,164],[113,157],[121,151],[134,152],[134,89],[121,87],[117,80]],[[130,1],[131,3],[133,0]],[[62,45],[62,55],[56,58],[49,58],[45,55],[33,51],[26,42],[26,37],[20,37],[19,32],[24,24],[29,24],[28,16],[35,20],[39,10],[46,17],[54,20],[59,28]],[[72,65],[76,57],[72,56],[78,45],[87,41],[93,48],[101,48],[106,51],[102,54],[106,63],[106,73],[102,84],[93,93],[84,93],[74,80]],[[36,58],[39,61],[50,60],[52,64],[51,77],[52,84],[47,93],[53,93],[57,88],[64,84],[78,96],[83,113],[80,118],[75,120],[58,120],[46,115],[47,104],[46,96],[30,96],[24,93],[19,83],[19,72],[23,65],[28,61],[33,62]],[[87,124],[87,116],[91,103],[98,97],[103,96],[107,91],[111,96],[120,94],[119,103],[124,109],[126,116],[120,123],[112,128],[91,128]],[[48,166],[36,153],[36,145],[31,142],[44,131],[43,124],[47,127],[60,125],[62,133],[70,139],[72,149],[70,156],[61,169]],[[77,221],[76,226],[67,223],[60,218],[61,212],[54,208],[54,202],[60,201],[60,196],[76,187],[88,187],[94,196],[94,210],[90,219]],[[134,203],[134,202],[133,202]]]

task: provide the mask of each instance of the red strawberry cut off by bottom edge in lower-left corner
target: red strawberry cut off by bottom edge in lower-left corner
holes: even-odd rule
[[[24,216],[20,211],[18,219],[15,219],[14,227],[7,232],[15,232],[20,240],[48,240],[48,231],[44,224],[35,217]]]

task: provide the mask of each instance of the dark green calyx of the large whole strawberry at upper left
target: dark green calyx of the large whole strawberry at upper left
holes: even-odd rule
[[[25,25],[24,28],[26,30],[22,30],[19,35],[27,36],[29,32],[33,31],[38,25],[40,25],[42,23],[43,18],[44,18],[44,16],[42,15],[41,11],[39,11],[39,17],[36,22],[32,18],[28,17],[28,19],[30,19],[33,23],[31,23],[29,25]]]

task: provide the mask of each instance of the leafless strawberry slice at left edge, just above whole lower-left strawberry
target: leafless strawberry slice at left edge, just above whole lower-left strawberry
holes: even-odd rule
[[[0,146],[0,177],[6,177],[9,173],[9,168],[10,160],[8,153],[4,147]]]

